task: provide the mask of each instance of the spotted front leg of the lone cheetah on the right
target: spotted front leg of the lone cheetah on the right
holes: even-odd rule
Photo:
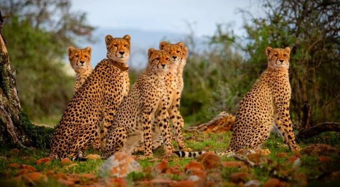
[[[290,121],[289,115],[289,101],[283,101],[283,99],[277,99],[274,97],[274,102],[276,105],[276,126],[282,133],[283,139],[287,145],[289,145],[290,150],[300,151],[300,147],[295,143],[295,136],[293,133],[292,124]],[[285,106],[281,103],[288,103],[288,106]]]

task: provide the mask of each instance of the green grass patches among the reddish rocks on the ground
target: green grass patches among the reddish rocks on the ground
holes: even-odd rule
[[[185,144],[187,147],[191,148],[193,151],[222,151],[227,148],[230,140],[231,133],[224,134],[210,134],[210,135],[193,135],[193,134],[185,134]],[[174,142],[175,143],[175,142]],[[308,144],[312,143],[327,143],[329,145],[335,146],[339,149],[340,146],[340,134],[339,133],[323,133],[319,136],[309,138],[307,140],[299,142],[301,148],[306,147]],[[267,181],[271,177],[281,178],[282,180],[286,180],[286,182],[290,182],[294,184],[297,183],[297,179],[291,177],[294,173],[305,173],[308,177],[308,186],[317,186],[317,185],[327,185],[335,184],[336,181],[328,180],[329,174],[333,171],[340,170],[339,163],[339,155],[332,155],[332,161],[330,163],[321,163],[317,160],[317,156],[307,156],[303,155],[301,157],[301,165],[300,167],[292,170],[291,166],[287,166],[286,160],[287,158],[277,158],[276,153],[284,152],[287,153],[288,156],[292,156],[293,153],[289,151],[289,148],[284,145],[281,137],[276,135],[270,136],[270,138],[264,143],[263,149],[269,149],[272,153],[268,156],[271,159],[271,163],[263,164],[260,167],[254,168],[221,168],[218,171],[219,176],[222,178],[223,182],[229,182],[229,176],[238,171],[250,172],[253,174],[252,179],[259,181]],[[55,173],[92,173],[96,176],[99,176],[99,169],[104,160],[87,160],[85,162],[75,161],[75,165],[73,167],[63,166],[59,160],[51,161],[48,164],[36,165],[34,163],[35,160],[48,156],[49,150],[47,149],[20,149],[19,153],[10,152],[11,149],[0,147],[0,181],[3,181],[2,184],[10,185],[11,181],[9,180],[12,177],[16,176],[16,173],[20,169],[9,168],[8,164],[17,163],[31,165],[36,168],[39,172],[47,172],[49,170],[53,170]],[[91,150],[87,151],[87,153],[93,153]],[[141,155],[142,153],[136,153],[135,155]],[[153,159],[147,160],[139,160],[139,164],[145,169],[147,167],[153,167],[155,164],[161,161],[161,157],[164,154],[164,150],[162,148],[155,150],[153,152]],[[179,159],[169,159],[169,167],[179,165],[180,170],[183,170],[184,166],[192,160],[196,160],[195,158],[179,158]],[[221,156],[221,161],[234,161],[235,159],[232,157]],[[73,163],[72,163],[73,164]],[[289,170],[289,175],[282,174],[284,170]],[[212,175],[214,177],[214,172],[208,172],[208,176]],[[291,176],[290,176],[291,175]],[[324,176],[324,177],[320,177]],[[133,181],[138,181],[141,179],[152,179],[156,177],[154,173],[131,173],[127,176],[127,184],[133,185]],[[290,177],[290,178],[289,178]],[[172,180],[185,180],[188,178],[187,175],[176,175],[176,174],[163,174],[162,178],[172,179]],[[319,179],[321,178],[321,179]],[[326,180],[327,179],[327,180]],[[54,182],[53,182],[54,181]],[[339,182],[339,181],[338,181]],[[48,184],[52,187],[60,186],[60,184],[55,182],[55,179],[51,177],[48,180]],[[339,184],[339,183],[338,183]],[[5,186],[6,186],[5,185]],[[46,185],[46,183],[42,183],[42,186]],[[39,184],[36,184],[39,186]]]

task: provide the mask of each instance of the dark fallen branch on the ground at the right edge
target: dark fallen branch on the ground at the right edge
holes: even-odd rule
[[[303,129],[295,134],[297,139],[306,139],[309,137],[317,136],[326,131],[340,132],[340,123],[337,122],[324,122],[308,129]]]

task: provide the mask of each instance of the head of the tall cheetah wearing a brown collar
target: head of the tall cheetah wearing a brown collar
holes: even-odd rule
[[[122,38],[114,38],[111,35],[105,36],[107,58],[120,63],[126,63],[130,57],[130,40],[129,34]]]

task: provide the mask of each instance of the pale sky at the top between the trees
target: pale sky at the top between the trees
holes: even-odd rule
[[[241,34],[243,18],[238,8],[260,14],[260,0],[71,0],[72,10],[84,11],[91,25],[188,34],[212,35],[218,23],[232,23]]]

